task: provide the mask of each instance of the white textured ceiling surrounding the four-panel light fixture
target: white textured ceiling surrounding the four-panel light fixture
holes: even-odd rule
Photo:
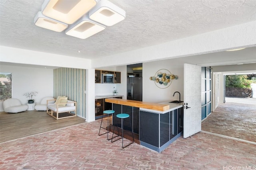
[[[94,59],[256,20],[256,0],[109,1],[126,19],[78,39],[34,25],[44,0],[0,0],[0,45]]]

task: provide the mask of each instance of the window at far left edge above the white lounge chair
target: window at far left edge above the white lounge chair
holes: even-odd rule
[[[12,98],[12,73],[0,72],[0,102]]]

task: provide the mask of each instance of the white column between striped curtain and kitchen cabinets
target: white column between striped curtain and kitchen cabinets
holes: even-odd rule
[[[86,69],[86,121],[95,121],[95,69]]]

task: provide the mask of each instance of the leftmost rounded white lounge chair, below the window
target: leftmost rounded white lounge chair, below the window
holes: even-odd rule
[[[28,109],[27,105],[22,105],[18,99],[7,99],[3,102],[4,111],[7,113],[19,113]]]

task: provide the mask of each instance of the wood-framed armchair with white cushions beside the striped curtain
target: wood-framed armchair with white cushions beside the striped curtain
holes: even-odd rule
[[[76,102],[71,100],[66,100],[66,102],[61,102],[58,104],[49,104],[49,102],[56,101],[54,100],[47,100],[47,114],[54,117],[55,119],[64,119],[68,117],[75,117],[76,116]],[[65,113],[65,116],[60,116],[60,113]]]

